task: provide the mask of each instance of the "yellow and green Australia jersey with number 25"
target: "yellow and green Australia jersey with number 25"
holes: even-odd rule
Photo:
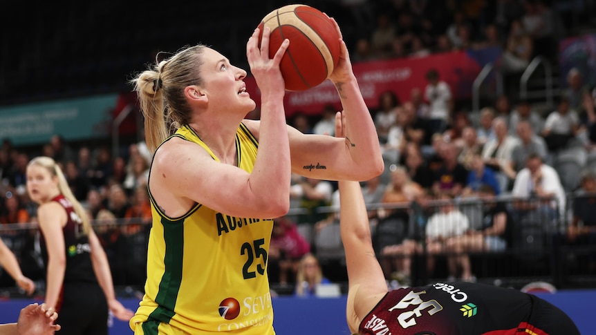
[[[218,161],[189,126],[173,136],[195,142]],[[241,124],[236,132],[241,169],[252,171],[257,147]],[[149,193],[153,225],[147,282],[131,329],[142,323],[142,334],[159,334],[160,324],[188,334],[274,334],[266,265],[273,221],[235,218],[202,204],[169,218]]]

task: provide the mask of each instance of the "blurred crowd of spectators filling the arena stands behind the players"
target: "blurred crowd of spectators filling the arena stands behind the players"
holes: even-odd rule
[[[568,35],[566,27],[577,23],[572,15],[577,8],[564,6],[566,1],[341,2],[357,30],[352,32],[357,36],[354,62],[498,47],[502,70],[519,74],[537,55],[556,64],[558,42]],[[504,94],[481,111],[469,111],[466,103],[458,106],[436,70],[429,70],[426,86],[412,88],[405,101],[391,90],[379,95],[371,115],[386,169],[362,187],[378,254],[399,256],[383,263],[387,278],[408,283],[411,256],[422,248],[430,254],[453,252],[447,260],[449,277],[474,280],[462,253],[511,247],[512,222],[532,216],[564,222],[564,229],[553,230],[560,233],[561,245],[596,242],[596,212],[590,209],[595,198],[569,201],[570,195],[596,191],[596,88],[575,68],[564,75],[556,106],[546,109],[543,102]],[[295,112],[288,124],[303,133],[333,135],[336,108],[326,106],[314,117]],[[130,144],[114,157],[109,146],[73,147],[59,135],[35,152],[3,141],[0,223],[9,225],[1,235],[24,274],[40,280],[35,229],[15,226],[36,221],[25,175],[36,155],[53,157],[62,166],[76,198],[95,220],[115,285],[142,286],[151,222],[151,155],[145,143]],[[269,266],[272,282],[293,285],[304,282],[307,259],[319,267],[317,257],[342,258],[342,247],[333,212],[339,204],[335,182],[295,176],[290,197],[290,214],[275,220]],[[513,200],[499,200],[507,197]],[[482,204],[478,216],[454,206],[467,199]],[[520,199],[528,201],[514,201]],[[325,208],[330,213],[317,211]],[[419,229],[408,228],[410,222]],[[436,267],[433,260],[427,265],[430,272]],[[590,266],[596,273],[594,257]],[[324,277],[320,269],[316,277]],[[313,291],[312,286],[298,291]]]

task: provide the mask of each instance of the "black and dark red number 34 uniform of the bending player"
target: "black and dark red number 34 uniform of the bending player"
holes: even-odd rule
[[[389,291],[360,323],[362,335],[579,335],[546,300],[515,289],[435,283]]]

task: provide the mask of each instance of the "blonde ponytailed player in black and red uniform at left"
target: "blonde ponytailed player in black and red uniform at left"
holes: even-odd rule
[[[27,166],[27,191],[37,202],[46,259],[46,305],[59,312],[61,334],[108,334],[108,309],[120,320],[133,312],[116,300],[106,253],[89,216],[50,157]]]

